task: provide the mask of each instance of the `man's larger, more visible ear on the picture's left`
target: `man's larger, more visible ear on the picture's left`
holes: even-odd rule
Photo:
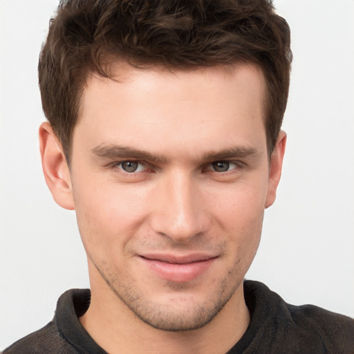
[[[66,158],[49,122],[39,127],[39,148],[44,178],[55,202],[64,209],[75,209],[73,188]]]

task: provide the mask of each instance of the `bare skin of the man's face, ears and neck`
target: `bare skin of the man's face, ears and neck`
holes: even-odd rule
[[[113,73],[88,78],[70,171],[50,124],[39,131],[46,182],[75,209],[88,258],[80,322],[109,353],[225,353],[250,322],[243,277],[286,144],[281,132],[268,156],[263,74],[124,63]],[[167,256],[166,278],[154,259]],[[188,257],[208,261],[194,273]]]

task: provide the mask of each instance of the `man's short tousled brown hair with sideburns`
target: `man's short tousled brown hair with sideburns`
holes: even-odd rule
[[[187,70],[251,62],[267,82],[268,152],[288,100],[290,29],[270,0],[62,0],[39,57],[44,113],[70,160],[86,77],[104,60]]]

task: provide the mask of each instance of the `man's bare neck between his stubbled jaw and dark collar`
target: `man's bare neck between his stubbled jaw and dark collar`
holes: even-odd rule
[[[250,314],[241,283],[218,315],[202,328],[159,330],[136,317],[104,281],[91,281],[91,304],[80,322],[95,342],[111,354],[219,354],[239,341],[250,323]]]

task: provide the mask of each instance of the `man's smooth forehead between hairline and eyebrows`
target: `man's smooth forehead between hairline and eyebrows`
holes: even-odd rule
[[[181,142],[189,151],[208,144],[263,145],[265,80],[257,66],[112,68],[112,78],[88,77],[73,147],[75,137],[87,145],[173,147],[171,152],[182,149]]]

